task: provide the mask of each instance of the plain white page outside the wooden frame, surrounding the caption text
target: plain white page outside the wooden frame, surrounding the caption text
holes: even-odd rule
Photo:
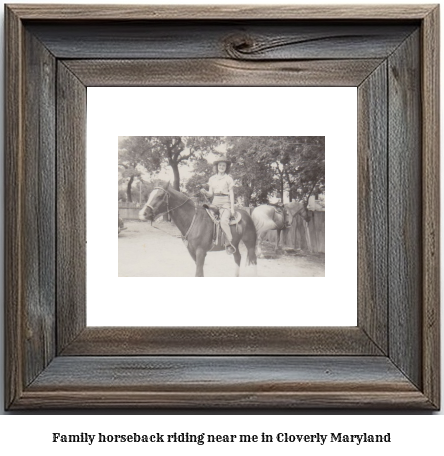
[[[58,0],[53,3],[60,3]],[[24,3],[37,3],[31,1],[24,1]],[[76,3],[88,3],[77,0]],[[100,1],[95,0],[95,3],[111,3],[110,1]],[[137,3],[135,0],[133,3]],[[152,0],[151,3],[168,3],[166,1],[155,1]],[[177,1],[172,1],[171,3],[177,3]],[[209,3],[209,1],[199,2],[198,0],[192,2],[182,2],[182,3]],[[215,3],[240,3],[239,1],[219,1]],[[260,4],[260,3],[271,3],[263,2],[261,0],[243,0],[242,3],[251,3],[251,4]],[[285,0],[280,0],[279,3],[298,3],[298,2],[288,2]],[[307,1],[300,2],[302,4],[308,3]],[[311,1],[312,4],[331,4],[331,3],[357,3],[356,1],[347,1],[340,0],[338,2],[332,2],[328,0],[314,0]],[[366,0],[366,3],[381,3],[380,0],[371,1]],[[424,1],[392,1],[391,3],[429,3]],[[439,3],[439,2],[438,2]],[[0,11],[0,14],[2,13]],[[2,24],[3,26],[3,24]],[[2,30],[3,36],[3,30]],[[3,53],[3,47],[0,47],[0,53]],[[3,60],[3,59],[2,59]],[[1,73],[1,78],[3,81],[3,70]],[[0,94],[3,96],[3,93]],[[441,129],[442,130],[442,129]],[[0,132],[3,135],[3,123],[0,123]],[[0,161],[0,166],[3,166],[3,161]],[[0,187],[0,193],[3,192],[3,188]],[[444,201],[444,198],[442,199]],[[0,204],[2,207],[1,215],[4,217],[3,213],[3,194],[0,195]],[[3,223],[1,224],[3,226]],[[1,248],[3,249],[3,238],[1,239]],[[3,251],[3,250],[2,250]],[[442,254],[441,254],[442,257]],[[3,264],[0,268],[3,267]],[[4,272],[0,274],[0,280],[3,280]],[[3,298],[3,294],[2,294]],[[1,299],[2,299],[1,298]],[[443,324],[443,315],[441,313],[441,328],[444,327]],[[0,312],[0,320],[3,319],[3,312]],[[0,343],[3,343],[3,324],[0,325]],[[442,337],[444,340],[444,337]],[[444,347],[441,350],[441,353],[444,352]],[[443,363],[444,364],[444,363]],[[0,400],[3,403],[3,350],[0,350]],[[442,386],[441,391],[444,391],[444,376],[442,376]],[[1,408],[0,408],[1,410]],[[392,444],[383,447],[374,447],[374,446],[341,446],[341,447],[332,447],[332,446],[285,446],[285,447],[276,447],[270,446],[268,451],[276,452],[279,450],[279,454],[297,454],[300,452],[302,454],[365,454],[365,455],[374,455],[375,452],[378,454],[387,454],[392,456],[393,454],[419,454],[419,453],[429,453],[429,454],[440,454],[444,447],[443,444],[443,412],[436,412],[433,415],[435,416],[423,416],[422,414],[408,414],[406,412],[399,412],[399,414],[372,414],[372,413],[356,413],[355,415],[349,416],[347,414],[343,415],[332,415],[327,412],[327,414],[318,415],[317,412],[313,412],[314,415],[307,415],[306,413],[301,413],[297,411],[289,411],[288,414],[284,415],[273,415],[263,413],[261,411],[252,412],[256,413],[258,416],[251,415],[237,415],[237,416],[207,416],[207,415],[193,415],[193,416],[181,416],[178,413],[173,414],[172,416],[155,416],[150,412],[141,412],[142,415],[134,414],[133,416],[119,416],[119,415],[110,415],[110,416],[88,416],[81,415],[78,416],[75,413],[68,412],[67,415],[58,416],[47,413],[46,416],[23,416],[15,415],[12,413],[5,413],[0,419],[0,449],[2,452],[8,454],[8,452],[14,451],[16,454],[54,454],[59,455],[61,452],[67,455],[79,454],[79,447],[77,445],[67,445],[67,446],[54,446],[50,443],[52,432],[65,432],[65,433],[77,433],[77,432],[103,432],[103,433],[112,433],[114,431],[118,432],[149,432],[150,430],[159,430],[174,432],[182,431],[200,431],[200,432],[219,432],[219,433],[230,433],[237,432],[240,433],[244,431],[245,433],[259,433],[262,431],[273,432],[274,430],[282,429],[289,432],[392,432],[392,435],[395,436],[395,439]],[[405,416],[402,416],[405,415]],[[439,416],[437,416],[439,415]],[[160,428],[160,429],[159,429]],[[107,446],[107,454],[121,454],[123,451],[128,451],[126,446]],[[131,447],[130,447],[131,448]],[[234,449],[234,448],[233,448]],[[239,450],[239,447],[235,448]],[[264,450],[267,451],[265,447],[258,448],[261,452]],[[227,448],[223,445],[218,447],[205,447],[202,448],[196,446],[180,446],[180,447],[168,447],[165,450],[164,454],[177,454],[177,450],[185,454],[197,454],[208,452],[208,454],[226,454]],[[243,448],[240,448],[241,451],[245,451]],[[94,452],[97,454],[97,447],[87,447],[81,446],[80,451],[82,452]],[[102,450],[105,452],[104,450]],[[229,450],[228,450],[229,451]],[[140,447],[139,450],[136,448],[131,448],[132,454],[149,454],[154,452],[151,448],[145,446]],[[211,452],[211,453],[210,453]],[[222,453],[223,452],[223,453]],[[237,454],[239,451],[237,451]],[[156,454],[161,454],[160,450],[156,448]]]

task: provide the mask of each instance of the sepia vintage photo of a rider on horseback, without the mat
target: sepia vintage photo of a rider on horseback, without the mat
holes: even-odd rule
[[[119,277],[325,277],[324,136],[120,136]]]

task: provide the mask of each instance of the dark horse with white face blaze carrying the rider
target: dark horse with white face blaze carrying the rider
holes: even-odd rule
[[[236,263],[235,277],[239,277],[241,254],[239,242],[247,247],[247,265],[256,265],[256,229],[247,212],[237,209],[241,221],[231,226],[232,244],[236,248],[233,254]],[[196,206],[191,198],[178,192],[167,184],[156,187],[149,195],[148,201],[139,212],[141,220],[154,220],[159,214],[169,213],[182,233],[182,239],[188,252],[196,263],[196,277],[203,277],[203,266],[207,252],[213,247],[214,223],[205,209]]]

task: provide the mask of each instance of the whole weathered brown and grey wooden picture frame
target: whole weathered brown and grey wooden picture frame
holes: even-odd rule
[[[5,408],[439,409],[438,8],[7,5]],[[86,87],[121,85],[358,87],[357,327],[86,327]]]

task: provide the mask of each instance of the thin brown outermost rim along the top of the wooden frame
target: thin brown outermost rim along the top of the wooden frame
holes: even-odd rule
[[[8,7],[27,20],[420,20],[436,5],[26,5]]]

